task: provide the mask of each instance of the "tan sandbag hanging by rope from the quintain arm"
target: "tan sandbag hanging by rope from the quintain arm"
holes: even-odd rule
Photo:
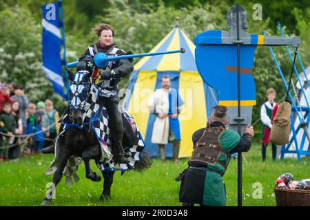
[[[291,104],[289,102],[282,102],[273,119],[269,142],[276,145],[289,143],[289,127],[291,126],[290,115]]]

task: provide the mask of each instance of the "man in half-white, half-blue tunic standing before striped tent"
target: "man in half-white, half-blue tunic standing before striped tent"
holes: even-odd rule
[[[165,162],[165,145],[174,143],[174,162],[178,162],[180,151],[180,122],[178,114],[182,110],[183,100],[176,89],[171,89],[169,76],[163,76],[161,80],[162,88],[156,89],[148,102],[149,111],[157,117],[152,131],[152,143],[158,144],[159,157]]]

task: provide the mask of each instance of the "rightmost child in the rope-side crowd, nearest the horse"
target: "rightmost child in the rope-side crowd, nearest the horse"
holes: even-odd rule
[[[45,114],[42,118],[42,129],[47,131],[45,137],[48,137],[50,140],[45,142],[45,146],[50,146],[53,144],[56,134],[59,133],[59,113],[54,109],[54,103],[52,100],[45,100]],[[54,124],[52,126],[52,124]],[[50,126],[50,128],[48,128]]]

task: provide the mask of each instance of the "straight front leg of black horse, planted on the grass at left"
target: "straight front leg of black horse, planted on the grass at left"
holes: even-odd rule
[[[70,157],[70,152],[68,149],[61,147],[61,152],[59,153],[59,166],[57,167],[54,176],[53,176],[53,186],[48,192],[47,195],[45,195],[45,199],[43,199],[41,206],[50,206],[52,197],[54,195],[54,190],[59,184],[59,181],[61,181],[61,177],[63,177],[63,170],[65,169],[65,164],[67,164],[67,161]]]

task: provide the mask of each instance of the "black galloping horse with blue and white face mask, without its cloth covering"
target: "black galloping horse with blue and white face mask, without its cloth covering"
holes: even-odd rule
[[[79,77],[76,76],[79,74]],[[69,72],[70,87],[74,87],[74,91],[70,89],[70,120],[73,123],[83,125],[83,113],[85,113],[86,103],[90,103],[94,97],[92,97],[92,92],[90,89],[95,86],[91,81],[90,73],[87,71],[81,71],[78,74],[72,74]],[[80,87],[79,87],[80,86]],[[76,89],[79,87],[79,89]],[[113,122],[109,122],[113,123]],[[85,123],[84,123],[85,124]],[[123,126],[125,129],[123,136],[123,147],[130,148],[134,144],[138,143],[138,137],[134,133],[132,126],[123,117]],[[114,135],[110,134],[110,140],[112,144],[114,143]],[[51,199],[54,193],[54,188],[59,184],[63,176],[63,170],[68,162],[68,159],[72,156],[81,157],[85,163],[86,178],[92,181],[101,181],[101,176],[92,171],[90,168],[90,159],[94,159],[96,164],[99,163],[101,159],[101,145],[99,140],[91,129],[91,123],[87,126],[82,126],[78,128],[77,126],[69,126],[65,132],[63,132],[59,137],[56,137],[57,151],[55,154],[59,155],[59,164],[53,176],[54,187],[50,189],[45,199],[43,199],[41,206],[50,206]],[[149,168],[152,165],[152,159],[147,156],[147,153],[142,152],[140,154],[140,159],[135,162],[133,170],[142,171]],[[113,183],[113,175],[115,171],[112,170],[102,170],[104,183],[103,192],[99,200],[109,198],[111,195],[110,188]]]

